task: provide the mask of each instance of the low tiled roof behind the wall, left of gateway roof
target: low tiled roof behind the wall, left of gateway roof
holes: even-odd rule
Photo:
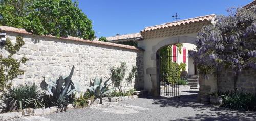
[[[141,38],[140,33],[132,33],[132,34],[125,34],[125,35],[117,35],[112,37],[106,37],[108,41],[115,41],[115,40],[124,40],[124,39],[138,39]]]

